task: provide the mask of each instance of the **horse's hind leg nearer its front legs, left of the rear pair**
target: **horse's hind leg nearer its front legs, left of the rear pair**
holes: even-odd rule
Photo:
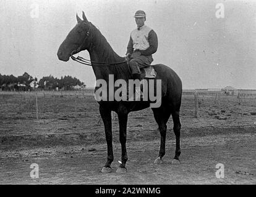
[[[158,124],[160,135],[161,135],[161,145],[158,158],[155,159],[155,164],[163,163],[163,156],[165,155],[165,142],[166,142],[166,123],[168,121],[169,116],[171,113],[168,111],[164,111],[163,108],[152,108],[153,114]],[[166,121],[167,120],[167,121]]]

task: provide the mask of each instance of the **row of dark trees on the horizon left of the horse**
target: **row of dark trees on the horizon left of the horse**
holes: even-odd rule
[[[15,77],[14,75],[2,75],[0,73],[0,89],[1,90],[17,90],[28,91],[32,89],[42,90],[72,90],[76,87],[85,87],[85,84],[72,76],[61,76],[61,79],[54,76],[44,76],[39,81],[25,72],[22,76]]]

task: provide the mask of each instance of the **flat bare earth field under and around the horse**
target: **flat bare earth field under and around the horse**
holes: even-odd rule
[[[113,172],[102,174],[106,159],[103,123],[92,90],[0,92],[0,184],[255,184],[256,98],[215,100],[184,94],[181,107],[181,164],[169,119],[164,163],[154,165],[160,134],[150,108],[130,113],[127,127],[127,174],[117,174],[121,158],[118,121],[113,120]],[[39,178],[30,177],[30,165]],[[216,164],[224,164],[217,179]]]

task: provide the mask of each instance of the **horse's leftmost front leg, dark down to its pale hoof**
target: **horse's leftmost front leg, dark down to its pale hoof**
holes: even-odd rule
[[[109,173],[111,172],[111,163],[114,160],[113,145],[112,145],[111,110],[100,106],[100,115],[101,115],[101,118],[103,119],[103,123],[105,126],[106,142],[108,145],[108,158],[101,172]]]

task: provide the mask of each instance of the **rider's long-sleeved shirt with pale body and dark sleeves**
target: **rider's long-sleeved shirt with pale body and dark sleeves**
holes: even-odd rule
[[[139,50],[141,55],[152,55],[158,48],[158,38],[154,30],[143,25],[140,30],[135,29],[130,33],[130,40],[126,54],[132,54],[134,50]]]

